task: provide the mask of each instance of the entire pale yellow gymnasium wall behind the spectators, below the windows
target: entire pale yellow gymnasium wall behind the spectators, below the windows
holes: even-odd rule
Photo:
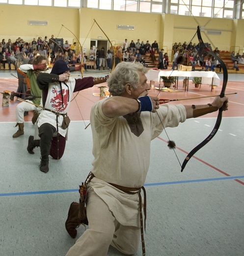
[[[0,40],[5,41],[10,38],[15,41],[19,36],[25,41],[31,41],[33,37],[45,35],[63,38],[72,43],[75,36],[64,25],[78,36],[81,44],[90,48],[91,39],[107,40],[104,33],[94,24],[98,22],[100,27],[108,35],[109,39],[118,45],[123,45],[127,38],[130,43],[137,39],[152,44],[155,40],[159,47],[165,50],[172,49],[174,42],[190,42],[198,25],[205,27],[202,32],[204,42],[211,43],[213,49],[230,50],[233,45],[244,47],[244,20],[230,19],[211,19],[205,17],[190,17],[173,14],[151,14],[109,10],[95,10],[92,8],[63,8],[63,7],[44,7],[28,5],[0,5]],[[9,17],[13,19],[9,20]],[[29,26],[28,20],[45,20],[48,26]],[[92,29],[91,26],[93,25]],[[117,30],[117,25],[133,25],[134,31]],[[90,30],[91,29],[91,30]],[[209,35],[207,30],[219,30],[221,35]],[[98,38],[102,36],[102,38]],[[87,37],[87,38],[86,38]],[[86,39],[85,39],[86,38]],[[192,40],[198,43],[195,36]]]

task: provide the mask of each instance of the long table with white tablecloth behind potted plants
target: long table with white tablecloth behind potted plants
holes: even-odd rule
[[[219,86],[220,79],[216,72],[213,71],[178,71],[178,70],[154,70],[150,69],[146,73],[146,77],[150,81],[157,81],[160,84],[160,77],[161,76],[176,76],[176,77],[186,77],[188,79],[187,81],[187,87],[185,88],[185,91],[188,91],[188,85],[189,85],[189,78],[190,77],[201,77],[202,78],[202,84],[208,84],[211,85],[211,91],[213,90],[213,86]],[[178,87],[178,84],[177,84]]]

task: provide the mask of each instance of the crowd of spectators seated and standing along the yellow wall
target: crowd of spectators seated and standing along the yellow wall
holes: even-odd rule
[[[210,50],[212,50],[211,44],[206,44]],[[89,58],[90,60],[96,60],[96,68],[100,69],[101,65],[105,68],[105,63],[107,62],[108,69],[111,69],[112,59],[115,59],[115,64],[120,63],[121,61],[125,62],[140,62],[147,65],[145,62],[145,54],[149,53],[150,58],[155,63],[157,60],[156,54],[161,55],[159,58],[159,68],[166,69],[168,66],[168,56],[167,53],[160,51],[159,45],[155,40],[152,44],[147,40],[146,43],[144,41],[140,41],[137,39],[136,43],[134,40],[131,40],[129,43],[127,39],[125,39],[123,45],[117,46],[116,48],[110,47],[108,52],[104,52],[104,49],[93,49],[91,47],[89,51],[89,56],[85,54],[82,56],[81,51],[76,52],[76,42],[73,44],[69,44],[68,40],[60,46],[59,43],[55,41],[54,35],[52,35],[49,39],[45,36],[44,40],[42,37],[33,38],[31,42],[26,42],[22,38],[18,37],[15,42],[12,42],[11,39],[8,39],[5,42],[5,39],[1,40],[0,43],[0,63],[3,68],[8,64],[9,69],[11,69],[11,61],[9,56],[17,58],[18,55],[22,52],[26,54],[26,57],[32,59],[36,52],[39,52],[40,55],[45,55],[49,57],[49,63],[52,64],[58,59],[64,59],[67,64],[79,64],[83,58],[83,63]],[[164,50],[163,50],[164,51]],[[178,55],[183,55],[186,59],[187,65],[192,66],[192,70],[195,69],[196,66],[200,67],[202,70],[215,70],[215,67],[220,67],[219,62],[211,57],[207,56],[205,51],[201,51],[199,47],[199,43],[190,42],[187,44],[185,41],[183,44],[174,43],[172,46],[173,52],[173,68],[175,67],[176,57]],[[215,48],[213,51],[217,56],[219,55],[218,48]],[[103,56],[102,56],[103,55]],[[112,57],[111,57],[112,56]],[[114,57],[113,57],[114,56]],[[235,64],[236,70],[238,70],[238,64],[244,64],[244,54],[235,55],[235,52],[231,53],[230,59]],[[234,67],[234,66],[233,66]],[[89,68],[85,65],[86,68]],[[221,68],[221,67],[220,67]],[[220,70],[221,71],[221,70]]]

